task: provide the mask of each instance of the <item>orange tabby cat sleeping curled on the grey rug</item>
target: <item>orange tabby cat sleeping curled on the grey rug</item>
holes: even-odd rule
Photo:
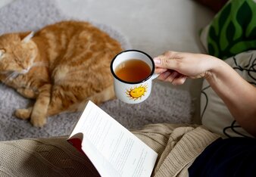
[[[114,98],[109,67],[120,51],[119,42],[82,21],[55,23],[34,35],[8,33],[0,36],[0,81],[36,99],[15,116],[42,127],[47,116]]]

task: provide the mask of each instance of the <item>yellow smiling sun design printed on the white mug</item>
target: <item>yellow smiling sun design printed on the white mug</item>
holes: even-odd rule
[[[141,99],[142,96],[147,92],[148,85],[139,85],[136,87],[131,87],[126,90],[126,95],[128,98],[133,99],[134,101]]]

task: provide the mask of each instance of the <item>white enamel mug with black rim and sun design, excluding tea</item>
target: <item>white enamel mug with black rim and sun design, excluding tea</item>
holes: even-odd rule
[[[150,75],[139,82],[127,82],[120,79],[115,73],[116,68],[124,61],[134,58],[148,64],[151,69]],[[111,62],[111,73],[114,76],[114,92],[117,98],[128,104],[138,104],[145,101],[151,93],[152,80],[158,77],[158,74],[155,74],[154,71],[155,64],[153,59],[143,51],[126,50],[117,54]]]

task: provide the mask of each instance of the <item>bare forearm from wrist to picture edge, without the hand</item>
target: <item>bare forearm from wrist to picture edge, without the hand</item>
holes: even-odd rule
[[[206,79],[239,125],[256,136],[256,88],[225,62],[215,62]]]

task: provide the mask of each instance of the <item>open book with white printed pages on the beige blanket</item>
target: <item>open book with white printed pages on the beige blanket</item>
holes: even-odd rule
[[[158,154],[89,101],[67,139],[101,176],[150,176]]]

